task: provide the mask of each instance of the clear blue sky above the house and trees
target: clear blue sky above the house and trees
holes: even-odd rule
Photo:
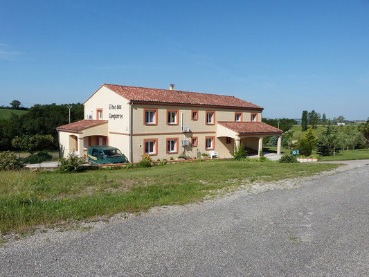
[[[0,105],[84,102],[102,83],[366,120],[369,0],[0,0]]]

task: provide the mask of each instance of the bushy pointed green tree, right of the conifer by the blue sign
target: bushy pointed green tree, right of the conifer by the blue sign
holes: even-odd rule
[[[339,139],[337,132],[332,128],[332,125],[328,123],[327,129],[322,132],[316,141],[316,150],[318,154],[322,156],[332,156],[334,153],[339,152]]]

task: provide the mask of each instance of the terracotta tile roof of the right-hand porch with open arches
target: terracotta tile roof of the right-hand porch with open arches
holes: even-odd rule
[[[282,134],[282,130],[264,122],[234,122],[218,121],[222,125],[238,134]]]

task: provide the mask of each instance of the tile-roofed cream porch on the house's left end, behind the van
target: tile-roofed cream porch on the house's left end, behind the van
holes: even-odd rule
[[[59,133],[60,157],[69,154],[87,157],[89,146],[109,145],[107,120],[80,120],[56,129]]]

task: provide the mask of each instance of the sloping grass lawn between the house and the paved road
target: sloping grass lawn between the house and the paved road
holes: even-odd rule
[[[75,174],[0,172],[0,231],[201,201],[255,180],[313,175],[335,164],[206,161]]]

